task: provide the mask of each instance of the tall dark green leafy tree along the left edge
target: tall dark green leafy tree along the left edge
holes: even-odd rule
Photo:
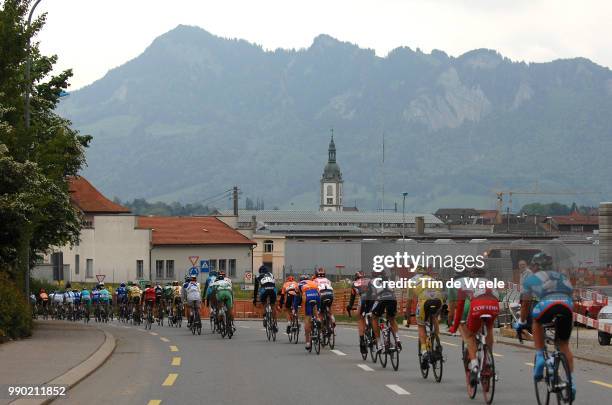
[[[10,269],[13,277],[16,266],[25,272],[37,254],[78,238],[81,221],[70,204],[68,182],[85,165],[85,148],[91,140],[55,113],[72,72],[51,74],[57,56],[42,55],[38,42],[32,42],[46,15],[28,26],[30,3],[5,0],[0,9],[0,266]],[[31,125],[26,128],[28,55]]]

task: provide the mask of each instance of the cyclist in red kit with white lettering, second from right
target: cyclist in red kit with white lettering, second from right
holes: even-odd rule
[[[455,333],[459,324],[464,323],[463,327],[459,328],[459,332],[468,349],[470,384],[476,385],[478,379],[476,334],[482,326],[481,316],[489,315],[490,317],[484,321],[487,328],[486,343],[493,350],[493,323],[499,314],[499,295],[494,288],[484,287],[484,283],[488,281],[484,277],[484,268],[472,267],[467,271],[469,277],[461,279],[461,287],[457,290],[453,326],[449,332]],[[467,315],[464,318],[465,314]]]

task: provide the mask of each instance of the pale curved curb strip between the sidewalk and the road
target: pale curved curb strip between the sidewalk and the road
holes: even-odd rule
[[[101,329],[100,329],[101,330]],[[98,347],[91,356],[89,356],[85,361],[81,364],[78,364],[68,370],[66,373],[60,375],[59,377],[54,378],[51,381],[48,381],[41,385],[63,385],[66,386],[68,392],[78,383],[83,381],[89,375],[91,375],[94,371],[96,371],[100,366],[102,366],[106,360],[113,354],[115,351],[115,347],[117,346],[117,342],[115,341],[115,337],[108,333],[105,330],[104,332],[104,343]],[[23,398],[17,399],[13,402],[10,402],[10,405],[45,405],[53,402],[58,396],[54,397],[46,397],[41,399],[33,399],[33,398]]]

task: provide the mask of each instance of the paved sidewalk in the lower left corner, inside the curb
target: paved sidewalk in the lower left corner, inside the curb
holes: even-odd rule
[[[105,342],[104,332],[82,322],[36,321],[29,339],[0,345],[0,405],[7,386],[41,385],[80,365]]]

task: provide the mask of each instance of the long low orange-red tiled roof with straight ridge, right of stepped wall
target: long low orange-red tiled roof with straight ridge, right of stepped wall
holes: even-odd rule
[[[138,227],[153,230],[153,245],[255,245],[215,217],[138,217]]]

